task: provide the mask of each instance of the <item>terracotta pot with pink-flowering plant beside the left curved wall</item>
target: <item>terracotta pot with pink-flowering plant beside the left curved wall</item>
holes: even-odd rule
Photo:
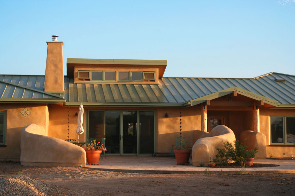
[[[85,151],[86,151],[86,159],[88,165],[99,165],[99,158],[100,154],[106,151],[104,145],[99,145],[100,142],[96,143],[96,140],[91,141],[91,143],[86,144]]]

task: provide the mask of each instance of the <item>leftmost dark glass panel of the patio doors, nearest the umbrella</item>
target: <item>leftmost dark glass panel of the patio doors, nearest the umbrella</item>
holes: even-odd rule
[[[89,111],[88,138],[100,142],[104,138],[104,111]]]

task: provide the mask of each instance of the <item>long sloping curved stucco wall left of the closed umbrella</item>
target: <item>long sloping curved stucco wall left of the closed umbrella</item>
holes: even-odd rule
[[[40,125],[30,124],[21,133],[20,162],[30,166],[85,166],[83,148],[64,140],[47,136]]]

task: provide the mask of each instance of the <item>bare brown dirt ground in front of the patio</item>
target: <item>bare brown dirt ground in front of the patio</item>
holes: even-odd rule
[[[0,177],[23,174],[79,195],[295,195],[295,174],[138,174],[0,162]]]

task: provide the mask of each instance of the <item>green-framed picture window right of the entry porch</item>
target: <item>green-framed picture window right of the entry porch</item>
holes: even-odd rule
[[[271,143],[295,144],[295,116],[271,116]]]

